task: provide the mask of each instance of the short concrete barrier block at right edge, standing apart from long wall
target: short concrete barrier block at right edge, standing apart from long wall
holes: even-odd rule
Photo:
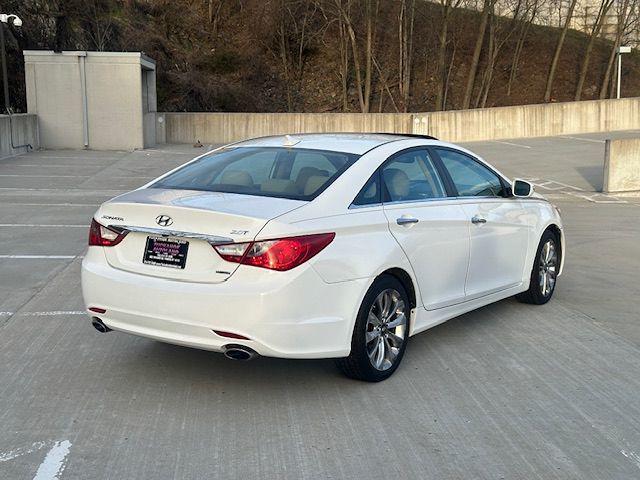
[[[640,191],[640,138],[607,140],[602,190]]]

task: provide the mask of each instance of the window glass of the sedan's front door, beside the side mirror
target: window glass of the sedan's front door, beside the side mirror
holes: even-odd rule
[[[500,197],[502,182],[498,175],[463,153],[436,148],[460,197]]]

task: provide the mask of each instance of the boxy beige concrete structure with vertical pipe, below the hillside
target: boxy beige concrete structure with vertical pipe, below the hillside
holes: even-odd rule
[[[25,50],[27,110],[43,148],[155,145],[156,64],[140,52]]]

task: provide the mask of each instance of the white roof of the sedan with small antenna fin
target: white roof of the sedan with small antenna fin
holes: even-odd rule
[[[301,133],[254,138],[234,143],[233,147],[292,147],[363,155],[385,143],[415,138],[435,140],[426,135],[396,133]]]

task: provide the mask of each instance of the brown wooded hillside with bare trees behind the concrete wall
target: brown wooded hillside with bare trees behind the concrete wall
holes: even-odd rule
[[[547,1],[547,0],[544,0]],[[406,112],[609,98],[638,0],[601,0],[587,33],[536,21],[543,0],[12,0],[12,106],[22,50],[143,51],[161,111]],[[497,14],[500,12],[500,15]],[[604,14],[619,19],[600,38]],[[623,94],[640,95],[640,55]]]

